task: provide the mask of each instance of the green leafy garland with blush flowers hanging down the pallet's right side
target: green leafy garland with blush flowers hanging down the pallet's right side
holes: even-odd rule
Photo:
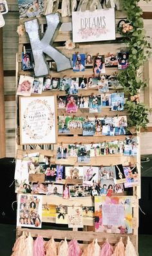
[[[149,108],[138,100],[139,90],[147,86],[138,71],[149,58],[151,48],[146,40],[144,21],[141,17],[142,9],[138,6],[138,2],[139,0],[122,0],[128,20],[119,28],[119,32],[124,36],[124,42],[129,49],[129,67],[118,75],[120,84],[129,95],[124,104],[124,109],[129,113],[128,125],[135,126],[137,130],[146,128],[149,122]]]

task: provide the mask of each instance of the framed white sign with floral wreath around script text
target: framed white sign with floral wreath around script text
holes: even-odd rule
[[[19,99],[21,145],[55,143],[55,98],[49,96]]]

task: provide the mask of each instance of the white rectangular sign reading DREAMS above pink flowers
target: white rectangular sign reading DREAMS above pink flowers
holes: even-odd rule
[[[72,12],[73,42],[115,40],[115,9]]]

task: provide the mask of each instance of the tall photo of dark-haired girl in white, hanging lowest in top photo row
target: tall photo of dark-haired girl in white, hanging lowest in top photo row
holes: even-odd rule
[[[96,77],[105,73],[104,55],[93,56],[93,73]]]

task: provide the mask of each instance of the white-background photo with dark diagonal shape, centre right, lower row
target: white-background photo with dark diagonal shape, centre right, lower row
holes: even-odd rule
[[[83,167],[83,185],[92,187],[93,183],[98,182],[99,167]]]

